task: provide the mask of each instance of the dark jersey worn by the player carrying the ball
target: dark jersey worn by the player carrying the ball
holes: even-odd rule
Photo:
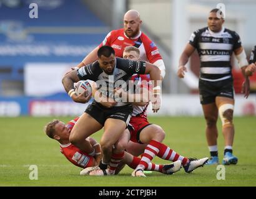
[[[102,95],[114,99],[114,88],[122,87],[124,90],[129,90],[130,77],[135,73],[145,74],[145,66],[144,61],[132,61],[116,57],[116,65],[112,75],[107,75],[99,66],[98,61],[79,68],[77,75],[80,80],[96,81],[97,88],[101,90]],[[118,101],[116,106],[126,104]]]

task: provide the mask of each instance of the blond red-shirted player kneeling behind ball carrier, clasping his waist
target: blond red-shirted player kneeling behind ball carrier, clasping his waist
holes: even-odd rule
[[[123,57],[131,60],[139,60],[139,54],[139,49],[135,47],[126,47]],[[147,75],[134,75],[132,76],[131,80],[137,80],[137,88],[139,87],[142,94],[147,93],[147,91],[140,88],[144,88],[146,90],[150,90],[150,88],[152,89],[152,86],[150,86],[150,78]],[[122,96],[126,98],[126,93],[122,93]],[[199,160],[187,159],[186,157],[177,154],[177,152],[170,149],[170,147],[161,143],[164,140],[165,132],[160,126],[150,124],[149,121],[147,121],[148,104],[148,102],[145,102],[144,104],[133,104],[132,118],[130,119],[129,123],[131,127],[130,141],[139,144],[147,144],[147,146],[145,147],[144,154],[142,155],[139,165],[136,167],[134,172],[132,172],[132,176],[145,177],[143,170],[144,168],[148,167],[148,164],[155,157],[155,155],[161,159],[171,160],[173,162],[177,160],[182,161],[182,166],[184,167],[185,172],[188,173],[192,172],[197,167],[204,165],[208,160],[207,157]],[[132,142],[129,142],[128,146],[126,147],[127,151],[129,151],[129,149],[135,149]]]

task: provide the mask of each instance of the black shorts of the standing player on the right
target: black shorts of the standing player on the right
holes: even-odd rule
[[[205,81],[199,79],[199,94],[201,104],[215,103],[217,96],[234,99],[233,80]]]

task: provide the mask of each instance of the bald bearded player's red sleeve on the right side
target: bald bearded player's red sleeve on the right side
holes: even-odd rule
[[[142,43],[144,44],[145,47],[145,52],[147,55],[147,59],[149,60],[150,63],[154,63],[157,60],[161,60],[162,57],[159,53],[159,50],[157,49],[157,46],[152,42],[152,40],[147,37],[147,35],[142,33]]]

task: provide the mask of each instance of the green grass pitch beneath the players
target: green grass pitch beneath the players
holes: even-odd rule
[[[216,166],[196,169],[192,174],[180,170],[174,175],[157,172],[147,178],[132,178],[125,167],[117,176],[80,176],[80,168],[69,163],[59,144],[43,132],[52,118],[0,118],[0,186],[256,186],[256,118],[234,118],[234,154],[237,165],[225,166],[225,180],[217,180]],[[67,122],[72,118],[60,118]],[[207,157],[203,117],[150,118],[166,132],[164,143],[186,157]],[[218,123],[221,128],[220,121]],[[99,141],[102,132],[92,137]],[[219,131],[219,157],[223,158],[224,139]],[[166,163],[155,158],[153,162]],[[29,165],[37,165],[38,180],[30,180]]]

